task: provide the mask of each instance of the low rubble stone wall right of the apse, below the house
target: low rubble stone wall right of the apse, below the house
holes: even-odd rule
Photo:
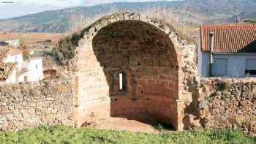
[[[256,134],[256,79],[203,79],[199,94],[202,126]]]

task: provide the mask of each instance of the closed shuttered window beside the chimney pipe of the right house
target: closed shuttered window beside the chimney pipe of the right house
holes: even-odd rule
[[[214,58],[212,75],[216,77],[227,75],[227,58]]]

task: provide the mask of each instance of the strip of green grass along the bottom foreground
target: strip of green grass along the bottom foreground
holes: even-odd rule
[[[68,126],[41,126],[21,132],[0,132],[1,143],[256,143],[238,129],[197,129],[146,134]]]

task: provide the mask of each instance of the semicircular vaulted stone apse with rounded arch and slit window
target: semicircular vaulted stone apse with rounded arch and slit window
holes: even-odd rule
[[[110,117],[161,121],[183,129],[184,59],[165,23],[113,14],[87,29],[73,59],[75,125]],[[125,75],[118,88],[119,73]]]

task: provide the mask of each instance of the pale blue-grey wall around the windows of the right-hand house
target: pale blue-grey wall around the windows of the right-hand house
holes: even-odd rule
[[[201,52],[200,75],[209,77],[209,53]],[[256,58],[256,53],[214,54],[214,58],[227,58],[227,77],[245,77],[246,58]],[[199,60],[198,60],[199,61]]]

